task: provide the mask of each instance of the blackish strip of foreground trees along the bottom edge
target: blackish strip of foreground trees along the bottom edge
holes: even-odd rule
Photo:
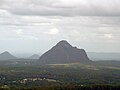
[[[50,86],[36,88],[0,88],[0,90],[120,90],[120,85]]]

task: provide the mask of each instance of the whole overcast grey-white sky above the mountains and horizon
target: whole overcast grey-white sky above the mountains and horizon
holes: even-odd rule
[[[0,52],[44,53],[60,40],[120,52],[120,0],[0,0]]]

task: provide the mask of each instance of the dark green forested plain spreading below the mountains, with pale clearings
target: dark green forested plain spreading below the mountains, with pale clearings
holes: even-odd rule
[[[120,67],[1,61],[0,90],[120,90]]]

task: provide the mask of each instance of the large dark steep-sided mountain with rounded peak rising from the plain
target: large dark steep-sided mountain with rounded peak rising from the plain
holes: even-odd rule
[[[84,49],[78,49],[62,40],[39,58],[40,63],[76,63],[91,62]]]

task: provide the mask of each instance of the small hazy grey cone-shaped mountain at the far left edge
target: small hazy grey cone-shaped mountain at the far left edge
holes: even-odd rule
[[[11,60],[11,59],[17,59],[17,57],[13,56],[7,51],[0,54],[0,60]]]

